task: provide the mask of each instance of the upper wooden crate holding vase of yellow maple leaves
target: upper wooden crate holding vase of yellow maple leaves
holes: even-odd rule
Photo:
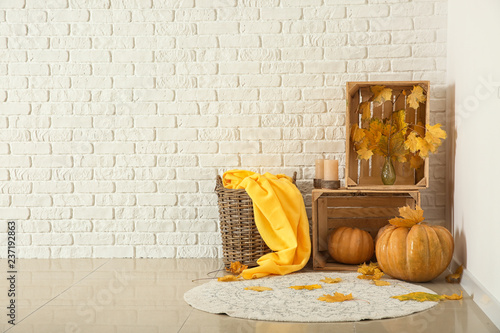
[[[372,156],[370,160],[359,160],[350,138],[350,129],[353,124],[362,127],[361,115],[358,110],[359,104],[367,101],[372,93],[370,86],[384,85],[393,89],[393,95],[398,95],[402,90],[411,91],[413,86],[421,86],[426,95],[427,102],[421,103],[417,110],[406,107],[406,97],[400,96],[394,105],[390,101],[376,106],[372,103],[372,117],[380,119],[389,118],[392,111],[406,109],[406,122],[416,124],[422,122],[426,125],[429,121],[429,81],[379,81],[379,82],[347,82],[347,112],[346,112],[346,168],[345,180],[347,187],[357,189],[386,189],[386,190],[416,190],[429,186],[429,159],[425,159],[424,164],[417,170],[410,168],[410,163],[393,162],[396,169],[396,183],[394,185],[384,185],[380,178],[384,158],[382,156]]]

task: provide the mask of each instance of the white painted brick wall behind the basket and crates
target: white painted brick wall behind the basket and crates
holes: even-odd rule
[[[343,175],[346,81],[428,79],[445,120],[446,21],[438,0],[0,0],[1,220],[21,257],[220,256],[217,174],[297,171],[308,206],[315,159]]]

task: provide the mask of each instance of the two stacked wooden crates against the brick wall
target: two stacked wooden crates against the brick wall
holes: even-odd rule
[[[419,85],[429,96],[428,81],[405,82],[348,82],[346,86],[346,167],[345,188],[339,190],[315,189],[313,198],[313,269],[315,270],[356,270],[356,265],[343,265],[335,262],[328,254],[328,235],[337,227],[357,227],[368,231],[375,239],[380,228],[388,220],[398,215],[398,208],[420,205],[420,190],[429,184],[429,162],[426,159],[418,169],[411,169],[409,163],[394,164],[396,183],[384,185],[381,171],[384,159],[372,156],[370,160],[359,160],[350,139],[353,124],[362,127],[358,106],[367,101],[371,86],[386,86],[398,94],[403,90],[411,90]],[[404,96],[405,97],[405,96]],[[372,105],[372,117],[389,118],[393,111],[406,109],[408,124],[428,124],[429,99],[417,110],[407,109],[406,97],[380,105]],[[372,258],[376,260],[375,258]]]

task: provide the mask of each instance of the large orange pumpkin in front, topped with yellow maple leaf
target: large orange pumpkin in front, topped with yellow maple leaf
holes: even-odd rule
[[[378,265],[384,273],[405,281],[427,282],[438,277],[453,256],[453,236],[441,226],[388,225],[377,238]]]

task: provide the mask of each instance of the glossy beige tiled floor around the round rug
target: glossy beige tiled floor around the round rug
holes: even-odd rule
[[[277,323],[213,315],[191,308],[184,292],[217,270],[215,259],[20,259],[16,326],[7,323],[7,281],[0,280],[2,332],[500,332],[471,298],[441,302],[396,319],[349,323]],[[0,267],[6,267],[0,260]],[[440,277],[438,293],[460,287]]]

